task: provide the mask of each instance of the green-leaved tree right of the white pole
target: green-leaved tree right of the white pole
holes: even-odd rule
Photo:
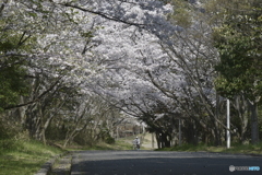
[[[217,91],[233,97],[245,94],[251,109],[251,139],[259,142],[258,104],[262,95],[262,3],[231,1],[225,7],[223,25],[215,30],[215,46],[221,54],[216,70]]]

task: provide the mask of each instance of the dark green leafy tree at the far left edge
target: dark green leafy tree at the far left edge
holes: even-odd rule
[[[26,31],[12,30],[16,26],[15,14],[9,14],[8,0],[0,3],[0,112],[19,103],[20,96],[28,92],[25,81],[28,43],[34,43]]]

